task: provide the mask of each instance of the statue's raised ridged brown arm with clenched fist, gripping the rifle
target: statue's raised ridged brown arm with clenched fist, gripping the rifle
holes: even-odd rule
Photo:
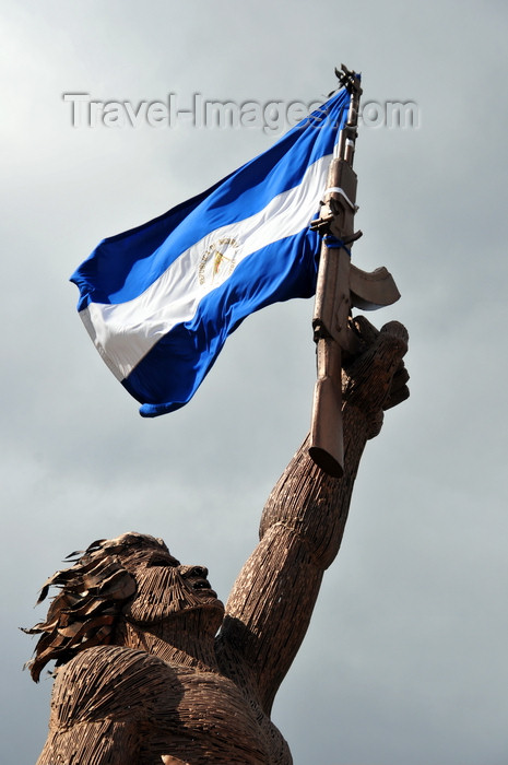
[[[323,572],[339,552],[365,444],[379,433],[383,411],[409,395],[402,325],[378,333],[359,317],[356,329],[363,352],[343,373],[344,475],[328,476],[304,442],[267,502],[261,541],[226,605],[222,662],[227,670],[245,661],[267,714],[305,636]]]

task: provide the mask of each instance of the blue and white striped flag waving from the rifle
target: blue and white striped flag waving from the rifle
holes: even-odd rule
[[[97,351],[143,416],[187,403],[246,316],[315,293],[309,223],[348,103],[340,91],[208,191],[104,239],[71,276]]]

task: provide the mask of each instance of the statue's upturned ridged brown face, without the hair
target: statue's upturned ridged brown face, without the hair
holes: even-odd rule
[[[125,609],[125,614],[134,622],[153,623],[203,609],[210,611],[213,621],[220,614],[221,623],[224,604],[212,590],[203,566],[182,566],[169,552],[155,546],[122,556],[122,564],[137,584],[137,593]]]

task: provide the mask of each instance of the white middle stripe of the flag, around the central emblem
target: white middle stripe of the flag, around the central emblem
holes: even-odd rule
[[[215,228],[189,247],[141,295],[120,304],[91,303],[80,316],[109,369],[122,380],[173,327],[196,315],[202,297],[224,278],[203,285],[199,267],[217,239],[232,238],[238,250],[235,268],[262,247],[298,234],[317,213],[331,154],[308,167],[302,184],[274,197],[259,213]]]

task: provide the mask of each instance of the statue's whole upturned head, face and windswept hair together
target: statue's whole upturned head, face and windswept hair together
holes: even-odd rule
[[[182,566],[162,539],[130,532],[113,540],[97,540],[85,551],[71,553],[70,568],[54,574],[43,586],[37,603],[50,587],[59,588],[45,622],[28,634],[40,635],[28,662],[37,682],[48,661],[56,666],[96,645],[121,643],[126,622],[155,625],[181,613],[205,610],[211,629],[224,615],[201,566]]]

